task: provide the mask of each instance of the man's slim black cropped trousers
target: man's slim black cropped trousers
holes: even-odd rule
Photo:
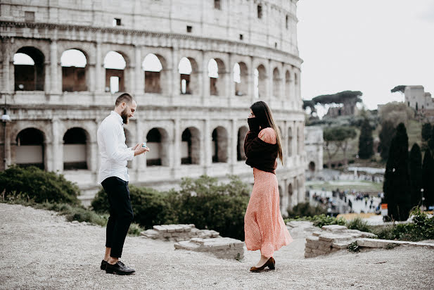
[[[108,196],[110,217],[107,222],[106,247],[110,256],[120,258],[134,214],[129,199],[128,182],[119,177],[108,177],[101,182]]]

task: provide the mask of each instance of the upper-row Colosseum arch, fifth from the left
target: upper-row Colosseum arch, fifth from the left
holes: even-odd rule
[[[197,94],[199,92],[198,63],[194,58],[183,57],[178,64],[180,94]]]

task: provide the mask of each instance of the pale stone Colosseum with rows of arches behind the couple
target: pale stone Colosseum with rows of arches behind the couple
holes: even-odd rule
[[[0,4],[2,169],[36,165],[99,188],[96,130],[129,92],[132,184],[238,175],[249,106],[266,101],[283,137],[281,208],[305,200],[298,0],[11,0]],[[7,115],[10,116],[8,120]]]

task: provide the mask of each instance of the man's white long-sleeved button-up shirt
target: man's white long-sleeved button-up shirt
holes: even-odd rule
[[[134,158],[134,151],[125,144],[122,117],[111,111],[98,128],[97,139],[101,154],[98,182],[107,177],[119,177],[129,181],[127,161]]]

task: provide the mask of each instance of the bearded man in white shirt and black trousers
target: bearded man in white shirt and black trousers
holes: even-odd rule
[[[98,147],[101,153],[99,182],[108,196],[110,217],[107,222],[106,254],[101,261],[101,270],[118,275],[130,275],[134,269],[127,267],[119,258],[122,255],[125,237],[133,220],[133,210],[129,199],[127,161],[149,151],[142,143],[133,148],[125,144],[122,127],[136,112],[136,101],[129,94],[121,94],[111,111],[98,128]]]

